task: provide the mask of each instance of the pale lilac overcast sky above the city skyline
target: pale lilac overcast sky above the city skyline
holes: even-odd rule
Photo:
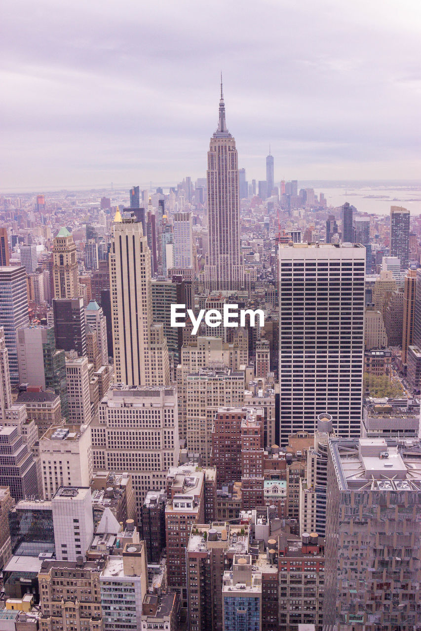
[[[203,177],[219,73],[247,179],[420,179],[419,0],[9,0],[0,191]]]

